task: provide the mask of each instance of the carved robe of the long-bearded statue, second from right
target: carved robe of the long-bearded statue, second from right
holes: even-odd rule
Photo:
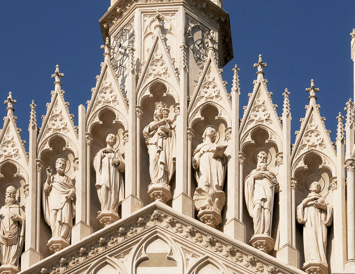
[[[263,174],[266,178],[255,179]],[[274,202],[273,178],[275,175],[269,170],[256,171],[245,178],[244,195],[249,215],[253,218],[254,234],[270,235],[271,216]]]

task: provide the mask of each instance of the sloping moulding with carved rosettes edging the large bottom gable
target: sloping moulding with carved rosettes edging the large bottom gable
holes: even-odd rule
[[[117,248],[125,248],[141,235],[153,229],[176,238],[176,243],[194,246],[202,254],[218,258],[219,262],[241,272],[258,274],[303,273],[295,268],[262,254],[241,242],[225,238],[222,232],[209,229],[201,222],[177,215],[167,205],[154,202],[130,218],[116,222],[78,244],[47,257],[40,265],[34,265],[22,273],[58,274],[70,270],[79,271],[86,262],[97,260]]]

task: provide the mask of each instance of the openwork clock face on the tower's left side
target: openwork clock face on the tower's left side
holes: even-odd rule
[[[124,25],[116,34],[112,43],[111,65],[116,73],[120,73],[127,61],[128,48],[133,45],[135,33],[133,25]]]

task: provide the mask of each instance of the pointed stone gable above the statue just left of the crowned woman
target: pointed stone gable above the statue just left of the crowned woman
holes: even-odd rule
[[[115,113],[114,122],[119,122],[125,129],[127,128],[125,117],[127,117],[128,107],[122,94],[122,87],[119,87],[112,67],[106,59],[87,105],[86,121],[88,132],[90,132],[94,124],[100,123],[100,113],[107,108]]]

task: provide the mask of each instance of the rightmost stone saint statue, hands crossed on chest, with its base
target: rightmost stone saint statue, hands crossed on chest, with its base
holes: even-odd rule
[[[303,269],[318,267],[318,273],[328,273],[327,226],[332,223],[333,209],[322,197],[320,185],[313,182],[310,193],[297,207],[297,222],[303,224]]]

